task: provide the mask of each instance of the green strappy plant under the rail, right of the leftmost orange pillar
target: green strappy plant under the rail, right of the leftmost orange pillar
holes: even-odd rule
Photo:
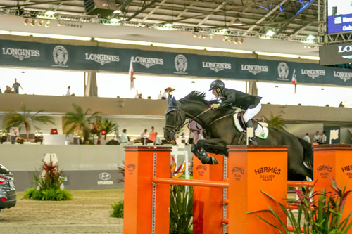
[[[170,186],[170,233],[189,233],[193,218],[193,188]]]

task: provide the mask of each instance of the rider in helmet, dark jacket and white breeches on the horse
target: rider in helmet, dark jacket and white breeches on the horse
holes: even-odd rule
[[[212,104],[211,108],[222,108],[225,105],[233,105],[237,108],[245,110],[244,112],[244,122],[247,127],[253,128],[252,118],[258,114],[262,108],[260,100],[262,99],[259,96],[253,96],[247,93],[242,93],[234,89],[225,88],[224,82],[220,79],[215,79],[211,82],[209,91],[213,91],[213,94],[221,99],[220,104]],[[256,136],[250,138],[253,145],[258,145]]]

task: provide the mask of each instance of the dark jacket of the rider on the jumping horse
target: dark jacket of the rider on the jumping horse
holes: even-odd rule
[[[225,105],[233,105],[237,108],[241,108],[243,110],[255,108],[262,99],[258,96],[253,96],[247,93],[243,93],[241,91],[237,91],[234,89],[222,89],[221,92],[221,103],[220,107]]]

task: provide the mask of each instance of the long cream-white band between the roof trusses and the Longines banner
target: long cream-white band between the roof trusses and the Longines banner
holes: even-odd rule
[[[246,37],[244,44],[234,44],[222,41],[224,36],[221,35],[214,35],[212,39],[199,39],[194,38],[192,32],[163,31],[151,28],[108,26],[92,23],[82,23],[82,27],[59,27],[57,25],[58,22],[54,20],[51,21],[50,27],[44,27],[44,25],[39,27],[37,24],[34,26],[30,26],[30,24],[24,25],[23,20],[24,18],[15,15],[0,15],[0,30],[151,41],[191,46],[232,48],[246,51],[288,53],[301,56],[319,56],[318,48],[304,48],[303,43],[294,41]]]

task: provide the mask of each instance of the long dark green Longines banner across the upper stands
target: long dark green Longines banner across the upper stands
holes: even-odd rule
[[[312,63],[26,41],[0,40],[0,48],[0,64],[3,66],[95,70],[127,74],[132,60],[136,74],[140,72],[289,83],[295,74],[298,84],[352,86],[350,70],[323,67]]]

